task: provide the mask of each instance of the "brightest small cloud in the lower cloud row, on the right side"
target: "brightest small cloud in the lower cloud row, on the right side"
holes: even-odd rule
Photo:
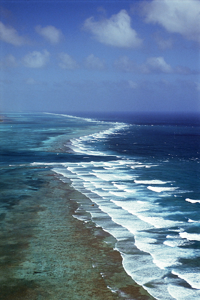
[[[148,58],[146,65],[151,72],[173,73],[172,67],[161,56]]]

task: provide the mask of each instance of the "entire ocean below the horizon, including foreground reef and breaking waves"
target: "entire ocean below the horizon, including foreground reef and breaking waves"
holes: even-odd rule
[[[44,292],[41,278],[53,268],[49,260],[54,257],[56,264],[58,258],[57,252],[50,258],[41,249],[50,253],[58,247],[56,230],[64,222],[68,227],[62,227],[60,243],[68,239],[59,253],[79,254],[74,255],[73,267],[66,267],[65,256],[60,271],[58,266],[54,270],[56,278],[71,278],[76,268],[77,274],[85,270],[83,277],[88,276],[91,266],[105,285],[102,299],[108,295],[128,300],[200,299],[199,116],[32,112],[1,116],[1,299],[26,299],[27,291],[32,291],[30,299],[101,299],[97,292],[75,291],[75,277],[59,290],[58,283],[48,281],[52,294]],[[59,224],[56,219],[51,223],[56,215]],[[58,227],[55,240],[44,236],[51,226]],[[91,245],[82,245],[87,238]],[[96,240],[100,244],[94,247]],[[49,241],[51,247],[45,244]],[[86,247],[96,258],[80,261],[77,257]],[[107,255],[106,249],[117,258]],[[66,268],[71,270],[67,274]],[[87,289],[92,284],[87,281]],[[13,287],[11,294],[8,286]],[[66,289],[74,291],[68,298]]]

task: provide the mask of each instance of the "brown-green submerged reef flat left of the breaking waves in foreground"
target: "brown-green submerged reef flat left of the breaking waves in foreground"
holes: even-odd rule
[[[124,271],[115,239],[73,217],[86,196],[48,168],[1,171],[1,300],[154,299]]]

